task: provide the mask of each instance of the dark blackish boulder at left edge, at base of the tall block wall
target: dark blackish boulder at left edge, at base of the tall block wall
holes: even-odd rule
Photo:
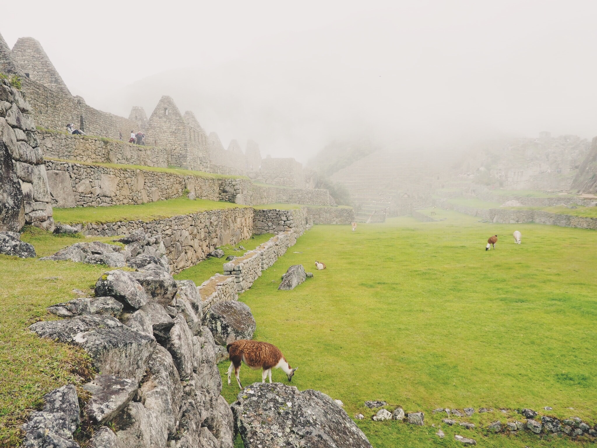
[[[0,120],[4,121],[3,118]],[[0,123],[0,231],[19,232],[25,224],[23,192],[14,170],[13,159],[2,141],[1,127],[2,123]]]

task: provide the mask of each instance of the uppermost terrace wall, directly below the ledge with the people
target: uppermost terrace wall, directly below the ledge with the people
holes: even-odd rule
[[[51,131],[38,131],[37,136],[46,158],[168,167],[168,152],[164,148]]]

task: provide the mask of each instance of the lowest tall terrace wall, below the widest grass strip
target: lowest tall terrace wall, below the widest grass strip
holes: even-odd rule
[[[128,235],[135,229],[162,234],[170,270],[178,273],[196,265],[207,254],[224,244],[238,244],[253,235],[253,208],[228,208],[173,216],[149,222],[87,223],[85,235]]]

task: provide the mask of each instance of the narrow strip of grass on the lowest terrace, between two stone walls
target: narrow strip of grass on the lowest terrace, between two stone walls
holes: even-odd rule
[[[108,207],[54,208],[54,220],[66,224],[83,222],[118,222],[142,219],[150,221],[181,214],[199,213],[207,210],[245,207],[232,202],[190,200],[187,197],[167,201],[147,202],[139,205],[110,205]]]

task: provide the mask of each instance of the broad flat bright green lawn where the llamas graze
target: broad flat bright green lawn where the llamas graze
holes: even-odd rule
[[[535,224],[479,223],[442,211],[448,220],[411,218],[380,225],[315,226],[241,300],[257,320],[256,338],[278,345],[293,366],[293,385],[324,391],[362,412],[359,426],[376,448],[544,446],[534,435],[484,436],[442,425],[436,407],[552,406],[553,415],[597,420],[597,232]],[[522,232],[513,244],[512,232]],[[497,250],[484,250],[498,234]],[[503,235],[503,237],[501,237]],[[296,253],[300,252],[300,253]],[[293,291],[278,291],[288,266],[314,259],[325,271]],[[223,394],[227,363],[220,364]],[[284,381],[281,371],[275,381]],[[242,367],[245,384],[260,372]],[[423,428],[371,422],[364,400],[423,410]],[[567,409],[573,407],[574,410]],[[475,414],[487,425],[500,412]],[[547,446],[578,446],[556,440]]]

